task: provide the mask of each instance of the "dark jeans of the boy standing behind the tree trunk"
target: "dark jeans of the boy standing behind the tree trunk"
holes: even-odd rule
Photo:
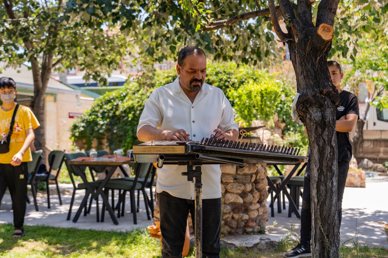
[[[346,177],[348,176],[349,162],[338,162],[337,200],[338,224],[342,220],[342,198],[345,191]],[[303,181],[302,211],[300,214],[300,243],[309,245],[311,240],[311,187],[310,187],[310,160],[308,160]]]

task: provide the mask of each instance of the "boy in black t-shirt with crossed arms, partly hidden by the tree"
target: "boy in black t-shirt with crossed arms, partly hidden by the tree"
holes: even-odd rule
[[[341,89],[343,78],[341,65],[335,61],[327,61],[331,80],[340,93],[340,105],[336,108],[336,131],[338,144],[338,220],[341,225],[342,198],[348,176],[349,162],[352,158],[352,145],[349,141],[349,132],[353,131],[359,117],[359,102],[357,96]],[[310,148],[307,151],[310,156]],[[284,253],[284,257],[310,257],[311,248],[311,189],[310,189],[310,160],[308,160],[305,179],[303,182],[302,211],[300,218],[300,243],[291,251]]]

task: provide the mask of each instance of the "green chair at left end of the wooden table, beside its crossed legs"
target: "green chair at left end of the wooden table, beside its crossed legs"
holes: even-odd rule
[[[73,184],[73,195],[71,196],[71,201],[70,201],[70,208],[69,208],[69,213],[68,213],[68,218],[67,220],[70,220],[70,217],[71,217],[71,209],[73,208],[73,204],[74,204],[74,196],[75,196],[75,193],[78,189],[86,189],[86,186],[84,183],[80,183],[78,184],[78,186],[75,184],[75,181],[74,181],[74,178],[73,178],[73,175],[76,175],[76,176],[79,176],[77,170],[75,170],[74,166],[73,165],[70,165],[68,164],[68,160],[75,160],[76,158],[78,157],[87,157],[87,155],[85,153],[81,153],[81,152],[78,152],[78,153],[71,153],[71,154],[66,154],[65,153],[65,164],[66,164],[66,167],[68,168],[68,172],[69,172],[69,176],[70,176],[70,180],[71,180],[71,183]],[[82,169],[82,172],[85,173],[85,169],[86,167],[81,167]],[[94,182],[90,182],[91,184],[94,183]],[[96,181],[95,182],[95,186],[98,187],[100,184],[99,181]],[[93,185],[92,185],[93,186]],[[84,215],[86,215],[86,213],[90,212],[90,206],[92,205],[92,200],[93,198],[90,198],[90,204],[89,204],[89,209],[87,210],[86,208],[86,205],[85,205],[85,213]],[[97,200],[97,213],[98,213],[98,200]]]

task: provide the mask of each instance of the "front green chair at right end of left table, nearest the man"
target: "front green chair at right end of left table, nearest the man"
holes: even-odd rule
[[[134,179],[124,177],[124,178],[116,178],[111,179],[107,183],[105,187],[105,191],[107,193],[107,190],[113,189],[113,190],[122,190],[123,193],[119,196],[119,202],[117,204],[118,207],[118,217],[120,217],[120,205],[121,207],[121,216],[124,216],[124,209],[125,209],[125,195],[126,192],[130,193],[130,202],[131,202],[131,212],[133,213],[133,223],[137,224],[137,206],[135,203],[135,191],[142,191],[143,197],[144,197],[144,204],[145,209],[147,212],[147,218],[148,220],[151,220],[151,216],[149,213],[149,199],[147,196],[147,193],[145,192],[145,185],[147,184],[149,175],[151,174],[152,163],[135,163],[134,170],[135,170],[135,177]],[[139,181],[140,180],[140,181]],[[139,196],[139,194],[138,194]],[[104,215],[105,215],[105,206],[103,204],[102,206],[102,215],[101,215],[101,221],[104,221]]]

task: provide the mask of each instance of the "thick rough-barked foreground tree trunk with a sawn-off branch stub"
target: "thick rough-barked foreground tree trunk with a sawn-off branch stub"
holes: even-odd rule
[[[306,23],[298,17],[292,25],[295,40],[288,42],[300,93],[296,107],[310,140],[312,253],[317,258],[338,257],[335,107],[339,104],[339,95],[327,68],[332,38],[328,35],[333,27],[321,24],[306,28]]]

